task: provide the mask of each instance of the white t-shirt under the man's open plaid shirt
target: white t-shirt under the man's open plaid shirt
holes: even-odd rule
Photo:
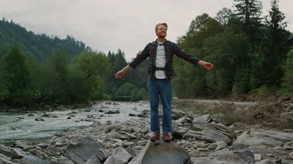
[[[156,57],[156,67],[157,68],[164,68],[166,65],[166,56],[165,56],[165,49],[163,42],[158,42],[158,48],[157,48],[157,57]],[[164,71],[156,70],[156,78],[158,79],[164,79],[166,78]]]

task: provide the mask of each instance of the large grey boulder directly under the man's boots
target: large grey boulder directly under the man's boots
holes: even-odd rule
[[[128,164],[191,164],[189,153],[173,142],[148,141]]]

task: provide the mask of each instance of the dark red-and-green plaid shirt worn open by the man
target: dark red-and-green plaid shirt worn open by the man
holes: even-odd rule
[[[148,43],[146,47],[144,48],[144,50],[141,52],[141,54],[137,55],[136,58],[134,58],[133,61],[129,63],[129,66],[135,69],[142,61],[144,61],[147,57],[149,57],[148,74],[149,74],[149,78],[151,79],[156,78],[155,64],[156,64],[157,47],[158,47],[157,40],[158,39],[156,39],[155,41],[151,43]],[[173,43],[165,39],[165,42],[163,44],[164,44],[165,56],[166,56],[165,75],[166,75],[167,81],[171,80],[171,78],[175,75],[175,72],[173,69],[174,54],[197,66],[199,59],[192,55],[189,55],[187,52],[182,50],[176,43]]]

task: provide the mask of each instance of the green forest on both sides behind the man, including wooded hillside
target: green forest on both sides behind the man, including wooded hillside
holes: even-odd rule
[[[195,16],[176,43],[214,68],[194,68],[175,56],[173,96],[215,99],[252,91],[291,95],[293,34],[286,29],[278,0],[271,0],[268,13],[262,9],[261,0],[234,0],[233,8],[223,7],[215,17]],[[148,60],[115,79],[127,64],[121,49],[104,53],[73,36],[35,34],[13,20],[0,20],[1,104],[147,99]]]

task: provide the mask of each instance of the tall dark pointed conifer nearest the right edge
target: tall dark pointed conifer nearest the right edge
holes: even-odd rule
[[[271,10],[266,17],[267,28],[260,56],[255,61],[255,77],[261,84],[280,86],[284,76],[282,65],[289,47],[286,42],[290,33],[285,28],[285,14],[279,10],[278,0],[271,0]]]

